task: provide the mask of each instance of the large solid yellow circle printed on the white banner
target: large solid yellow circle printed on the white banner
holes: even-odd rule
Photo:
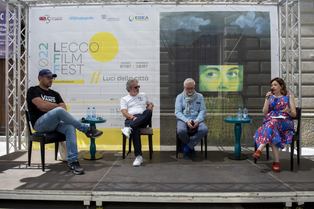
[[[100,32],[89,40],[89,53],[99,62],[109,62],[116,57],[119,43],[111,33]]]

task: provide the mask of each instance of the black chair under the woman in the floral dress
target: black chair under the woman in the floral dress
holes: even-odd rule
[[[292,117],[291,117],[292,118]],[[300,164],[300,129],[301,129],[301,107],[296,107],[296,116],[292,118],[292,120],[298,121],[298,125],[296,127],[296,131],[294,132],[294,136],[292,138],[292,142],[290,143],[290,170],[293,170],[293,154],[294,154],[294,142],[296,142],[296,155],[298,159],[298,165]],[[257,150],[257,145],[255,143],[255,151]],[[266,156],[269,159],[269,146],[266,145]],[[257,159],[254,158],[254,163],[257,162]]]

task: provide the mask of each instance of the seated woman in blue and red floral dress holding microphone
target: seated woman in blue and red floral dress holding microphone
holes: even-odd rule
[[[285,144],[292,142],[294,135],[293,120],[296,116],[295,101],[291,94],[287,94],[286,85],[281,78],[273,78],[270,81],[272,92],[268,92],[269,99],[265,99],[263,113],[266,117],[263,125],[254,134],[257,150],[253,157],[259,159],[263,148],[270,143],[274,155],[273,171],[280,172],[279,148],[284,148]],[[273,119],[273,116],[284,116],[284,120]]]

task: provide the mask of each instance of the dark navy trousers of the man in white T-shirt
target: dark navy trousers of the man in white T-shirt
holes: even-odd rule
[[[153,112],[149,109],[144,110],[142,114],[135,114],[136,117],[134,121],[131,119],[126,119],[124,121],[125,127],[132,126],[132,142],[134,147],[134,155],[142,155],[142,142],[141,142],[141,131],[140,128],[146,128],[152,119]]]

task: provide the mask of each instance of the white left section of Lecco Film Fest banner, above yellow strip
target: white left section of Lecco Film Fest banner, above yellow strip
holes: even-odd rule
[[[149,7],[31,8],[29,85],[38,85],[38,72],[48,68],[57,74],[51,89],[70,113],[80,119],[95,107],[107,119],[97,127],[121,128],[120,99],[127,80],[138,78],[159,128],[158,18]]]

